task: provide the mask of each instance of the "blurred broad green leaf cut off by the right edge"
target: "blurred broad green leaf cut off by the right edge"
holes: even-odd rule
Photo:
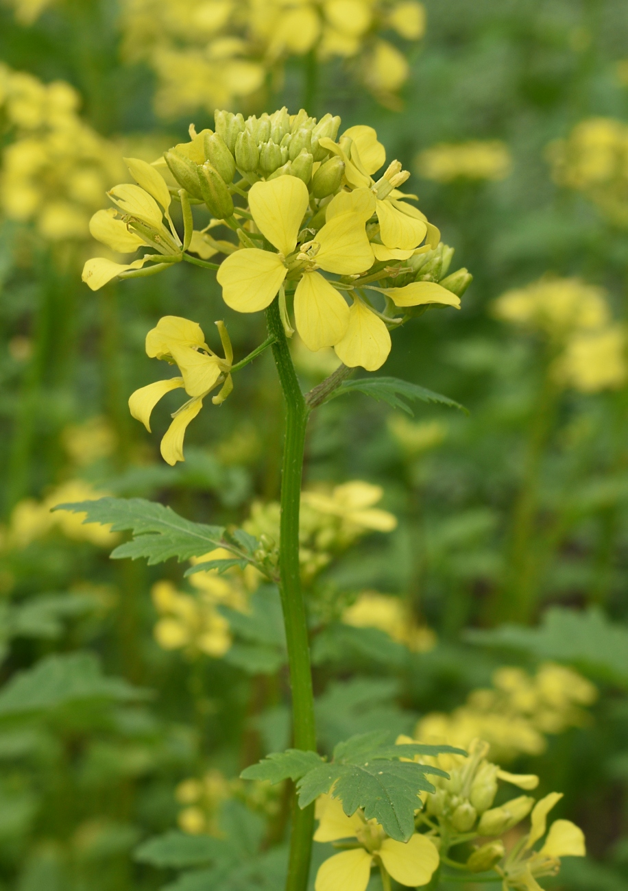
[[[542,659],[582,667],[602,680],[628,686],[628,626],[609,622],[600,609],[553,607],[537,628],[502,625],[466,633],[471,643],[526,650]]]

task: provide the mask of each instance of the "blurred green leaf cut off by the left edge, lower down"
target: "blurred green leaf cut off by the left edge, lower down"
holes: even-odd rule
[[[43,711],[81,699],[127,702],[149,694],[118,677],[105,677],[93,653],[55,654],[20,671],[0,692],[0,716]]]

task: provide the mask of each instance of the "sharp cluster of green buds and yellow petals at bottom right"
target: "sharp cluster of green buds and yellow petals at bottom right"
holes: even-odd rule
[[[397,742],[410,742],[400,737]],[[454,868],[464,867],[471,873],[494,870],[502,878],[504,891],[526,889],[538,891],[536,879],[554,876],[559,872],[560,858],[583,857],[583,832],[575,823],[557,820],[552,823],[542,846],[534,846],[547,831],[547,815],[562,795],[551,792],[534,802],[534,798],[521,795],[505,804],[493,807],[498,791],[498,781],[510,783],[524,791],[538,786],[534,774],[516,774],[503,771],[498,764],[486,760],[488,743],[472,740],[469,757],[442,755],[416,756],[423,764],[433,764],[449,773],[449,779],[435,777],[432,782],[436,791],[428,793],[425,807],[417,816],[417,824],[427,829],[427,835],[438,846],[442,862]],[[530,830],[522,834],[506,853],[500,836],[514,829],[530,814]],[[461,843],[479,840],[466,862],[450,859],[450,850]],[[453,854],[455,857],[456,854]]]

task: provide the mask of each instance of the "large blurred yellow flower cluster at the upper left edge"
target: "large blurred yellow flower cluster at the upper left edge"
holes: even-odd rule
[[[64,81],[43,84],[0,65],[0,208],[12,220],[33,221],[46,241],[89,238],[102,193],[124,171],[115,146],[80,119],[78,104]]]

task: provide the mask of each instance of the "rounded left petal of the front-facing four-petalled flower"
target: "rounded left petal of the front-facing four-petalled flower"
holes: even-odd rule
[[[290,179],[296,178],[290,176]],[[222,285],[223,299],[228,307],[239,313],[257,313],[273,302],[287,272],[277,254],[246,248],[236,250],[224,260],[216,279]]]

